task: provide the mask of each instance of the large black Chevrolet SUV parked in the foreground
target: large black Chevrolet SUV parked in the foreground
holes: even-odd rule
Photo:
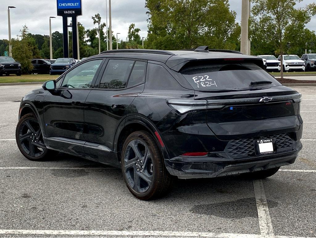
[[[172,178],[264,178],[302,148],[301,94],[261,58],[233,51],[112,50],[76,64],[21,101],[16,142],[121,167],[137,198]]]

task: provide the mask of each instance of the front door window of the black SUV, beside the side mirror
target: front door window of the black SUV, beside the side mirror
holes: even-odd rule
[[[83,63],[65,75],[61,87],[89,88],[102,60]]]

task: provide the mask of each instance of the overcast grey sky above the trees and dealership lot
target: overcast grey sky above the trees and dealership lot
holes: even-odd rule
[[[303,0],[298,6],[312,3],[313,0]],[[106,21],[106,0],[82,0],[83,15],[78,17],[86,29],[93,28],[91,16],[100,13]],[[240,22],[241,0],[229,0],[231,10],[236,11]],[[56,0],[1,0],[0,9],[0,39],[8,39],[8,14],[5,6],[15,6],[10,10],[12,37],[19,34],[22,25],[26,24],[32,34],[49,35],[49,17],[56,16]],[[147,18],[145,0],[112,0],[112,30],[114,34],[121,33],[119,38],[126,39],[128,26],[135,23],[141,29],[140,35],[147,35]],[[307,24],[307,28],[316,31],[316,17]],[[62,32],[62,17],[52,19],[52,32]]]

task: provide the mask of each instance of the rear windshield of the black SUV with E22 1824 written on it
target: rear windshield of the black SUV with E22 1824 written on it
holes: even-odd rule
[[[195,64],[185,67],[180,73],[195,90],[200,91],[282,85],[265,70],[251,62]]]

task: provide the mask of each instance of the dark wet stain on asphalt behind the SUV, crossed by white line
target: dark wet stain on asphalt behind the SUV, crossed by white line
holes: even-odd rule
[[[268,200],[269,208],[277,206],[277,202]],[[242,198],[222,203],[198,204],[190,209],[199,215],[218,216],[227,219],[240,219],[245,217],[258,217],[256,199],[254,197]]]

